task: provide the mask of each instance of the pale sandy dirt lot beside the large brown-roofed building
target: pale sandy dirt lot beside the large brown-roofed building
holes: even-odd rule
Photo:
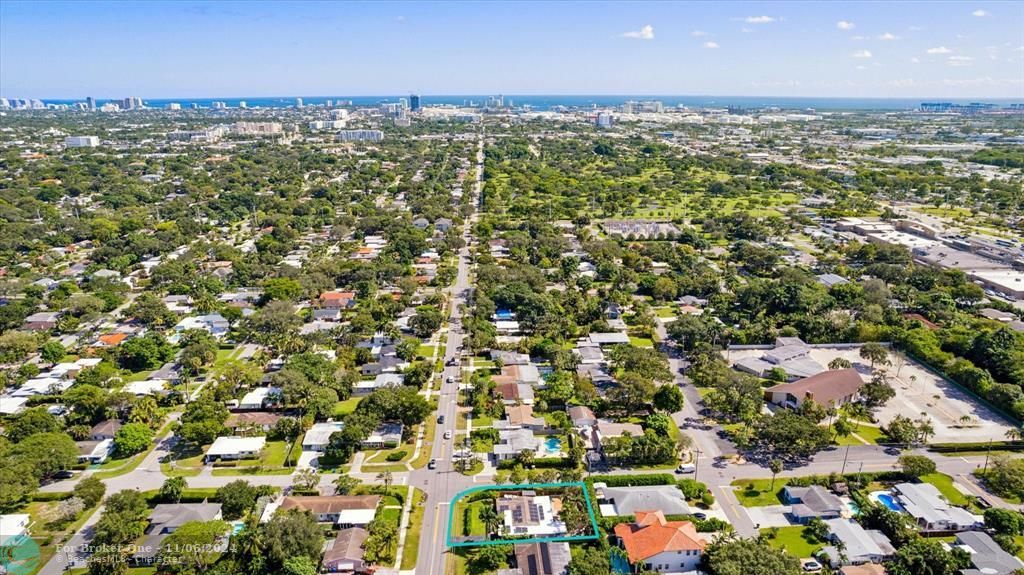
[[[741,350],[729,352],[729,359],[760,356],[762,351]],[[812,348],[810,357],[821,365],[837,357],[844,357],[853,363],[864,379],[871,377],[870,365],[861,359],[857,348]],[[880,424],[887,424],[897,414],[912,419],[927,417],[935,428],[931,442],[974,442],[1006,439],[1011,424],[1000,415],[982,405],[954,384],[946,382],[927,370],[912,359],[906,358],[902,364],[890,353],[892,365],[882,366],[889,373],[890,383],[896,390],[896,397],[876,412]],[[963,421],[963,417],[970,421]]]

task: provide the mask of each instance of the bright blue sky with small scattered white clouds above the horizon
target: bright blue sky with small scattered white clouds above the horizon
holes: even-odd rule
[[[0,2],[0,95],[1024,98],[1024,2]]]

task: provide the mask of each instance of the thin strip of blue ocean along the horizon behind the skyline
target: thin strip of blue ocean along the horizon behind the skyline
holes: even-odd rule
[[[408,98],[408,94],[391,96],[299,96],[305,105],[323,105],[327,100],[337,102],[351,101],[357,106],[377,105],[384,102],[397,102],[398,98]],[[420,101],[423,105],[451,104],[451,105],[473,105],[485,102],[488,95],[445,95],[431,96],[421,95]],[[949,99],[949,98],[824,98],[824,97],[782,97],[782,96],[672,96],[672,95],[505,95],[506,104],[511,100],[515,106],[529,105],[536,110],[546,110],[554,106],[567,106],[573,108],[587,107],[607,107],[620,105],[629,100],[658,100],[666,107],[678,104],[690,107],[739,107],[739,108],[760,108],[777,106],[785,109],[893,109],[906,110],[916,108],[922,101],[951,101],[954,103],[970,103],[972,101],[983,101],[1006,105],[1010,103],[1024,103],[1024,99]],[[187,108],[193,103],[198,103],[201,107],[212,107],[213,102],[222,101],[229,107],[237,107],[239,102],[245,101],[249,107],[291,107],[295,105],[296,96],[281,97],[222,97],[222,98],[153,98],[145,99],[148,107],[162,108],[170,102],[177,102],[181,107]],[[43,100],[45,103],[73,103],[79,100]],[[111,99],[97,99],[96,105],[102,105],[108,101],[119,101]]]

